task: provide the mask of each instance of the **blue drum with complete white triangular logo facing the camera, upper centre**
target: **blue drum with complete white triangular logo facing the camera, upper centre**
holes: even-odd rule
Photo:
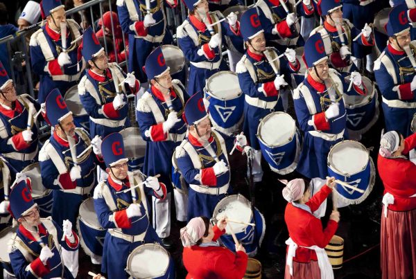
[[[243,123],[244,112],[244,97],[237,74],[231,71],[214,73],[208,78],[204,92],[212,125],[225,134],[237,132]]]

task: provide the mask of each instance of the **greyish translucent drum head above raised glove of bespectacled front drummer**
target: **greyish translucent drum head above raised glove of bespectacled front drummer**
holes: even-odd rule
[[[128,158],[142,158],[146,154],[146,141],[141,138],[137,127],[129,127],[120,131],[123,136],[124,152]]]

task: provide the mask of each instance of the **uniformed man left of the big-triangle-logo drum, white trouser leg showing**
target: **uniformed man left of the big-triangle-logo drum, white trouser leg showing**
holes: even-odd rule
[[[172,245],[167,238],[171,234],[171,158],[187,133],[182,114],[189,96],[180,80],[172,80],[162,48],[150,53],[145,70],[150,88],[137,102],[137,123],[147,142],[143,172],[149,176],[161,174],[159,180],[168,187],[166,199],[152,198],[153,227],[168,247]]]

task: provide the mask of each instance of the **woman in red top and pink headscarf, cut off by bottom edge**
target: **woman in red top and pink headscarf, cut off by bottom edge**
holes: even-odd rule
[[[243,278],[248,255],[242,244],[236,245],[236,253],[225,249],[218,238],[225,233],[227,222],[220,219],[213,226],[205,216],[192,218],[180,229],[184,246],[182,260],[188,271],[187,278]]]

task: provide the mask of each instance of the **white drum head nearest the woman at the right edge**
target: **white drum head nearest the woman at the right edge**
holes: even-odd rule
[[[329,151],[328,163],[333,171],[352,175],[364,170],[369,158],[367,149],[358,141],[341,141]]]

